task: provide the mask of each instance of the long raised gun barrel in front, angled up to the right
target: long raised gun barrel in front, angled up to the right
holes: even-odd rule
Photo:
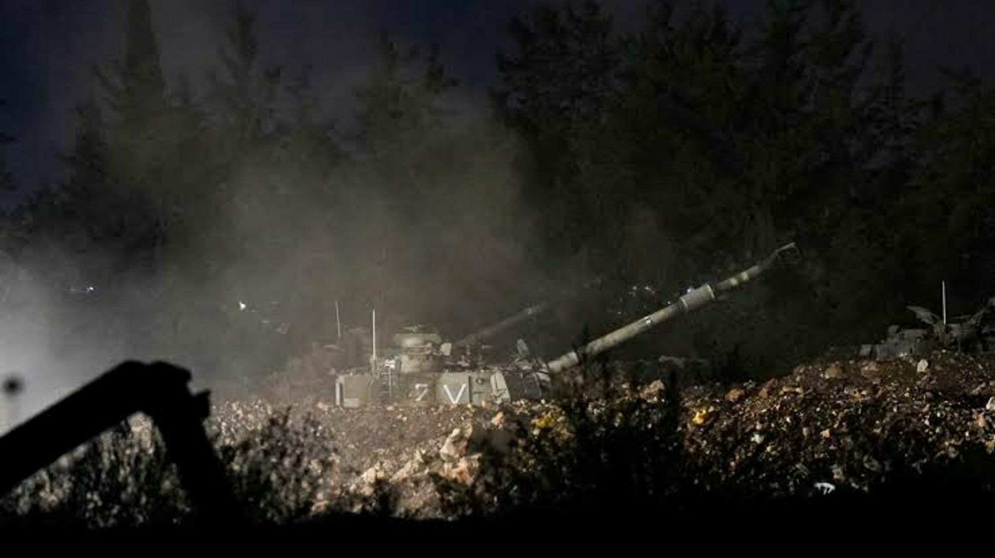
[[[709,284],[704,284],[697,289],[693,289],[688,292],[674,304],[666,306],[653,314],[632,322],[627,326],[623,326],[614,332],[588,343],[580,349],[571,350],[554,360],[550,360],[546,363],[546,368],[553,373],[569,369],[579,364],[584,358],[604,352],[605,350],[611,349],[623,342],[629,341],[630,339],[663,322],[667,322],[668,320],[677,318],[682,314],[687,314],[697,310],[698,308],[711,303],[722,294],[756,279],[764,271],[774,265],[774,263],[785,253],[794,252],[796,250],[797,248],[795,247],[794,242],[782,246],[777,250],[774,250],[774,252],[767,256],[766,259],[715,284],[714,287]]]

